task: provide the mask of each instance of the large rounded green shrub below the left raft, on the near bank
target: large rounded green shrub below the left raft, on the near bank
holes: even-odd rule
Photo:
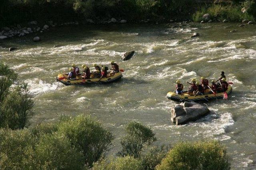
[[[108,149],[113,136],[99,121],[87,115],[66,119],[58,125],[58,133],[66,135],[72,145],[81,150],[89,166]]]

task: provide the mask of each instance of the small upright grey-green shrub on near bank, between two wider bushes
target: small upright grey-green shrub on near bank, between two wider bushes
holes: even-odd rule
[[[138,158],[143,147],[151,145],[156,141],[153,131],[140,122],[131,121],[126,125],[125,130],[126,135],[120,140],[122,150],[118,155],[130,155]]]

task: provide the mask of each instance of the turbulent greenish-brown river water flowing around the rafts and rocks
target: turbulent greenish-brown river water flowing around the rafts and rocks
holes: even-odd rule
[[[236,31],[232,31],[236,29]],[[190,38],[194,33],[200,37]],[[256,25],[236,23],[173,25],[112,25],[60,27],[40,35],[0,43],[0,57],[30,85],[35,101],[32,123],[59,115],[91,114],[115,135],[112,153],[120,149],[124,125],[132,119],[150,125],[157,145],[217,139],[228,147],[232,169],[256,168]],[[57,47],[53,47],[57,45]],[[8,52],[7,47],[18,47]],[[136,51],[121,62],[126,51]],[[70,64],[110,64],[125,70],[113,84],[65,86],[56,76]],[[234,82],[228,100],[207,103],[210,115],[176,126],[166,99],[181,80],[216,79],[225,71]]]

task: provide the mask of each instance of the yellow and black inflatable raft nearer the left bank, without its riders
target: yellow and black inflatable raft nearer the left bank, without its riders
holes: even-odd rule
[[[83,79],[78,76],[76,80],[69,80],[68,75],[63,73],[63,74],[58,74],[58,76],[56,77],[56,80],[59,82],[62,82],[65,85],[74,85],[74,84],[88,84],[88,83],[111,83],[111,82],[115,82],[116,80],[119,80],[121,77],[122,77],[122,73],[117,72],[113,76],[102,78],[101,80],[99,78]]]

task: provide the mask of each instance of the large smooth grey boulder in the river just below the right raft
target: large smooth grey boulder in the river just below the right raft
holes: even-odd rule
[[[176,125],[182,125],[188,121],[195,121],[208,113],[210,110],[202,104],[184,102],[171,108],[171,121],[176,122]]]

